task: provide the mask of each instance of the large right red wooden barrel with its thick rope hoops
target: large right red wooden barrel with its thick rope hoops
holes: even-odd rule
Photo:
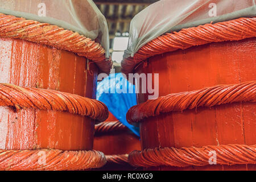
[[[132,165],[256,169],[255,24],[256,18],[241,18],[187,28],[138,52],[136,64],[138,57],[148,58],[135,72],[159,73],[159,98],[147,101],[147,93],[138,94],[141,104],[127,113],[129,122],[141,123],[143,151],[130,154]],[[150,53],[144,51],[150,46]],[[123,62],[125,73],[131,61]]]

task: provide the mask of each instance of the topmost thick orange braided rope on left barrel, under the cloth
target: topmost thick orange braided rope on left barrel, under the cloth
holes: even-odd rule
[[[0,13],[0,37],[23,39],[77,53],[95,61],[104,73],[109,73],[112,67],[112,61],[105,59],[105,50],[99,43],[48,23]]]

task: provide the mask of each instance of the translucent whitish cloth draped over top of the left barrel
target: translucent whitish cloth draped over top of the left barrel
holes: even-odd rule
[[[0,1],[0,13],[77,32],[100,43],[110,56],[108,24],[92,0]]]

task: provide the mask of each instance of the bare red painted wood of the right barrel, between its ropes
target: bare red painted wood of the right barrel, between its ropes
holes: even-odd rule
[[[256,38],[164,53],[138,73],[159,73],[159,96],[256,79]],[[138,94],[138,102],[147,94]],[[142,148],[256,143],[256,104],[235,103],[162,114],[141,123]],[[250,170],[255,165],[156,167],[158,170]]]

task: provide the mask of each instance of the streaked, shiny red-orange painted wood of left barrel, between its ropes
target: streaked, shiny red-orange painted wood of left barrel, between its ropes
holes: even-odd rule
[[[75,53],[16,39],[0,39],[0,82],[95,98],[96,65]],[[0,107],[0,148],[91,150],[94,121],[52,110]]]

